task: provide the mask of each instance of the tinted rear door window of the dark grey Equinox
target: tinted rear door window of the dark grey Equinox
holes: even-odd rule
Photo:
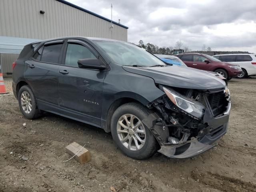
[[[58,61],[60,57],[61,48],[62,43],[45,45],[42,52],[41,61],[49,63],[59,63]]]

